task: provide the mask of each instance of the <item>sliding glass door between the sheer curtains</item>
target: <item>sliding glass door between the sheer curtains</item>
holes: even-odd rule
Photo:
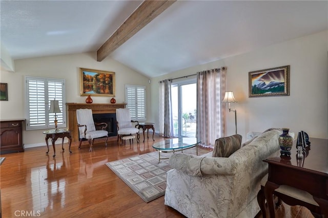
[[[196,137],[196,79],[174,82],[171,91],[174,136]]]

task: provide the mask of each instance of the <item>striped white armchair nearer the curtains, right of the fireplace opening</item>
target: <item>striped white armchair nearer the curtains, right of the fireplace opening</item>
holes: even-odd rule
[[[135,127],[132,127],[132,123],[136,123]],[[136,128],[139,122],[131,120],[130,109],[118,108],[116,109],[116,125],[117,125],[117,141],[123,136],[137,134],[137,143],[139,142],[139,129]]]

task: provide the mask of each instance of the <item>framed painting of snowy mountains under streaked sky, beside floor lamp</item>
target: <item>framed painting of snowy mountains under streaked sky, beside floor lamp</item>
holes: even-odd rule
[[[289,95],[290,65],[249,72],[249,97]]]

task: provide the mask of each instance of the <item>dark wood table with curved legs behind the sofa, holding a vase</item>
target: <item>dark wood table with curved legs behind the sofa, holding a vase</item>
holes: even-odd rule
[[[280,185],[288,185],[309,192],[328,217],[328,139],[310,138],[311,147],[303,159],[297,159],[296,140],[288,157],[263,160],[269,164],[269,177],[264,186],[270,217],[275,217],[273,195]]]

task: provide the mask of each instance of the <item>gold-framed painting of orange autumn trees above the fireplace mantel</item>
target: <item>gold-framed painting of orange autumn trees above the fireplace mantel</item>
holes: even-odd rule
[[[115,72],[80,68],[80,95],[115,96]]]

